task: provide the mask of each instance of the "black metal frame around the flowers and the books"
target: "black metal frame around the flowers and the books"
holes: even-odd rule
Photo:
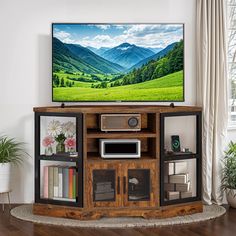
[[[74,117],[76,118],[76,151],[78,157],[69,157],[52,155],[50,157],[40,155],[40,117]],[[40,198],[40,162],[47,161],[64,161],[75,162],[77,170],[78,192],[76,202],[59,201],[53,199]],[[65,206],[83,207],[83,115],[82,113],[56,113],[56,112],[35,112],[35,203],[56,204]]]

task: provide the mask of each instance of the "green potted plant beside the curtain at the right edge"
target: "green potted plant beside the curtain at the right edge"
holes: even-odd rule
[[[236,208],[236,143],[229,143],[225,155],[222,187],[229,205]]]

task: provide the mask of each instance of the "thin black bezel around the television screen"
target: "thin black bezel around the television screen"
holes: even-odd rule
[[[183,27],[183,44],[184,44],[184,55],[183,55],[183,100],[79,100],[79,101],[63,101],[63,100],[57,100],[55,101],[53,99],[53,26],[54,25],[182,25]],[[52,64],[51,64],[51,89],[52,89],[52,102],[57,102],[57,103],[148,103],[148,104],[153,104],[153,103],[158,103],[158,102],[185,102],[185,23],[88,23],[88,22],[83,22],[83,23],[56,23],[53,22],[51,23],[51,56],[52,56]]]

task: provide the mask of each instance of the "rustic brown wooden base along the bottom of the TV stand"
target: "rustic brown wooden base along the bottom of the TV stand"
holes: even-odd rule
[[[89,190],[88,192],[90,192]],[[121,198],[117,200],[115,205],[120,206]],[[91,202],[91,201],[89,201]],[[93,203],[94,204],[94,203]],[[107,205],[106,205],[107,204]],[[91,206],[91,205],[89,205]],[[92,205],[91,207],[93,207]],[[96,205],[97,206],[97,205]],[[70,219],[79,219],[79,220],[94,220],[101,217],[118,217],[118,216],[141,216],[144,218],[166,218],[174,217],[179,215],[188,215],[197,212],[202,212],[202,203],[193,202],[186,204],[179,204],[168,207],[161,208],[135,208],[135,207],[126,207],[126,208],[112,208],[109,207],[109,202],[104,202],[103,208],[87,208],[79,209],[75,207],[64,207],[56,205],[47,205],[47,204],[34,204],[33,212],[37,215],[45,216],[54,216],[54,217],[64,217]],[[105,208],[107,206],[107,208]],[[112,205],[110,205],[112,206]]]

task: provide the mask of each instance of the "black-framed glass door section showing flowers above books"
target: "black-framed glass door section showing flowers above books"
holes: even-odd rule
[[[83,206],[83,116],[35,113],[35,202]]]

